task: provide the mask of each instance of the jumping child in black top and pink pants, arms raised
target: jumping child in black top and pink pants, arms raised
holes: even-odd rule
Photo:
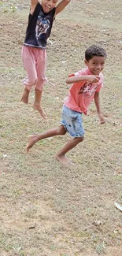
[[[35,102],[33,108],[38,110],[45,119],[41,98],[43,84],[46,82],[46,43],[50,36],[54,17],[61,13],[70,0],[31,0],[31,9],[28,17],[28,28],[22,47],[22,59],[27,78],[24,79],[24,93],[21,101],[28,104],[29,92],[35,86]]]

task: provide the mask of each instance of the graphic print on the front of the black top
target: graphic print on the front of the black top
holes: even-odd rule
[[[46,32],[50,28],[50,17],[44,17],[43,12],[39,13],[37,24],[35,28],[36,39],[46,38]]]

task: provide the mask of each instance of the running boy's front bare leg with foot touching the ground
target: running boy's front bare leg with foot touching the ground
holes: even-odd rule
[[[73,147],[76,147],[77,144],[81,143],[83,139],[84,137],[76,137],[74,139],[68,140],[68,143],[66,143],[65,147],[63,147],[60,151],[57,152],[55,158],[57,158],[57,160],[60,161],[63,165],[72,164],[72,162],[68,160],[65,154],[69,150],[72,150]]]

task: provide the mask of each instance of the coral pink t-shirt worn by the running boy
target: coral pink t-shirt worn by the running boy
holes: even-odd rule
[[[70,76],[87,76],[93,75],[89,69],[82,69]],[[87,109],[94,98],[95,92],[99,92],[103,87],[103,75],[99,74],[98,83],[90,83],[86,80],[72,83],[67,98],[64,98],[64,105],[69,109],[80,113],[87,114]]]

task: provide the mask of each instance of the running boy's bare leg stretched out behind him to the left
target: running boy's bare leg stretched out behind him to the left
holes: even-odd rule
[[[56,135],[65,135],[65,133],[66,133],[66,130],[65,130],[64,126],[61,125],[59,128],[50,129],[46,132],[40,133],[39,135],[29,135],[26,152],[28,153],[28,151],[31,149],[31,147],[41,139],[46,139],[46,138],[53,137]]]

